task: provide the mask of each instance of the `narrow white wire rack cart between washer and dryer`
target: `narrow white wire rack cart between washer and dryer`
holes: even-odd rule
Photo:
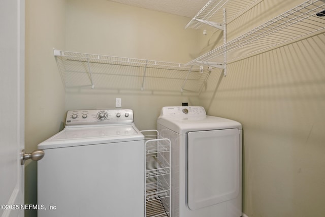
[[[145,216],[171,217],[171,141],[158,131],[141,131],[145,136]]]

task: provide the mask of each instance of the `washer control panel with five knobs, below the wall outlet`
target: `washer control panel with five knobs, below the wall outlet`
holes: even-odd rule
[[[133,123],[132,109],[69,110],[66,126],[123,125]]]

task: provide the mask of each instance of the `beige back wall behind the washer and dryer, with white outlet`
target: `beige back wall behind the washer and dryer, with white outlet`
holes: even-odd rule
[[[186,17],[106,0],[70,0],[66,50],[185,64],[198,43],[198,33],[184,29],[188,21]],[[146,130],[156,128],[163,106],[179,106],[182,102],[199,104],[197,93],[180,91],[187,71],[147,68],[143,91],[144,68],[108,66],[93,71],[94,89],[70,85],[67,81],[67,110],[115,108],[115,98],[121,98],[122,108],[134,110],[136,126]],[[74,77],[71,83],[77,79],[81,78]]]

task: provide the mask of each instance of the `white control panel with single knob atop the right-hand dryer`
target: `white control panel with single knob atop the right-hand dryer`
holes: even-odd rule
[[[202,106],[167,106],[161,109],[160,116],[175,118],[204,118],[206,117],[206,112]]]

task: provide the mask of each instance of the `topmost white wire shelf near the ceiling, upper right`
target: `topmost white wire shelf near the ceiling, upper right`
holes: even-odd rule
[[[210,26],[219,28],[217,26],[221,26],[223,22],[223,8],[227,10],[226,23],[228,23],[260,1],[261,0],[210,0],[199,13],[189,21],[185,28],[207,29]]]

